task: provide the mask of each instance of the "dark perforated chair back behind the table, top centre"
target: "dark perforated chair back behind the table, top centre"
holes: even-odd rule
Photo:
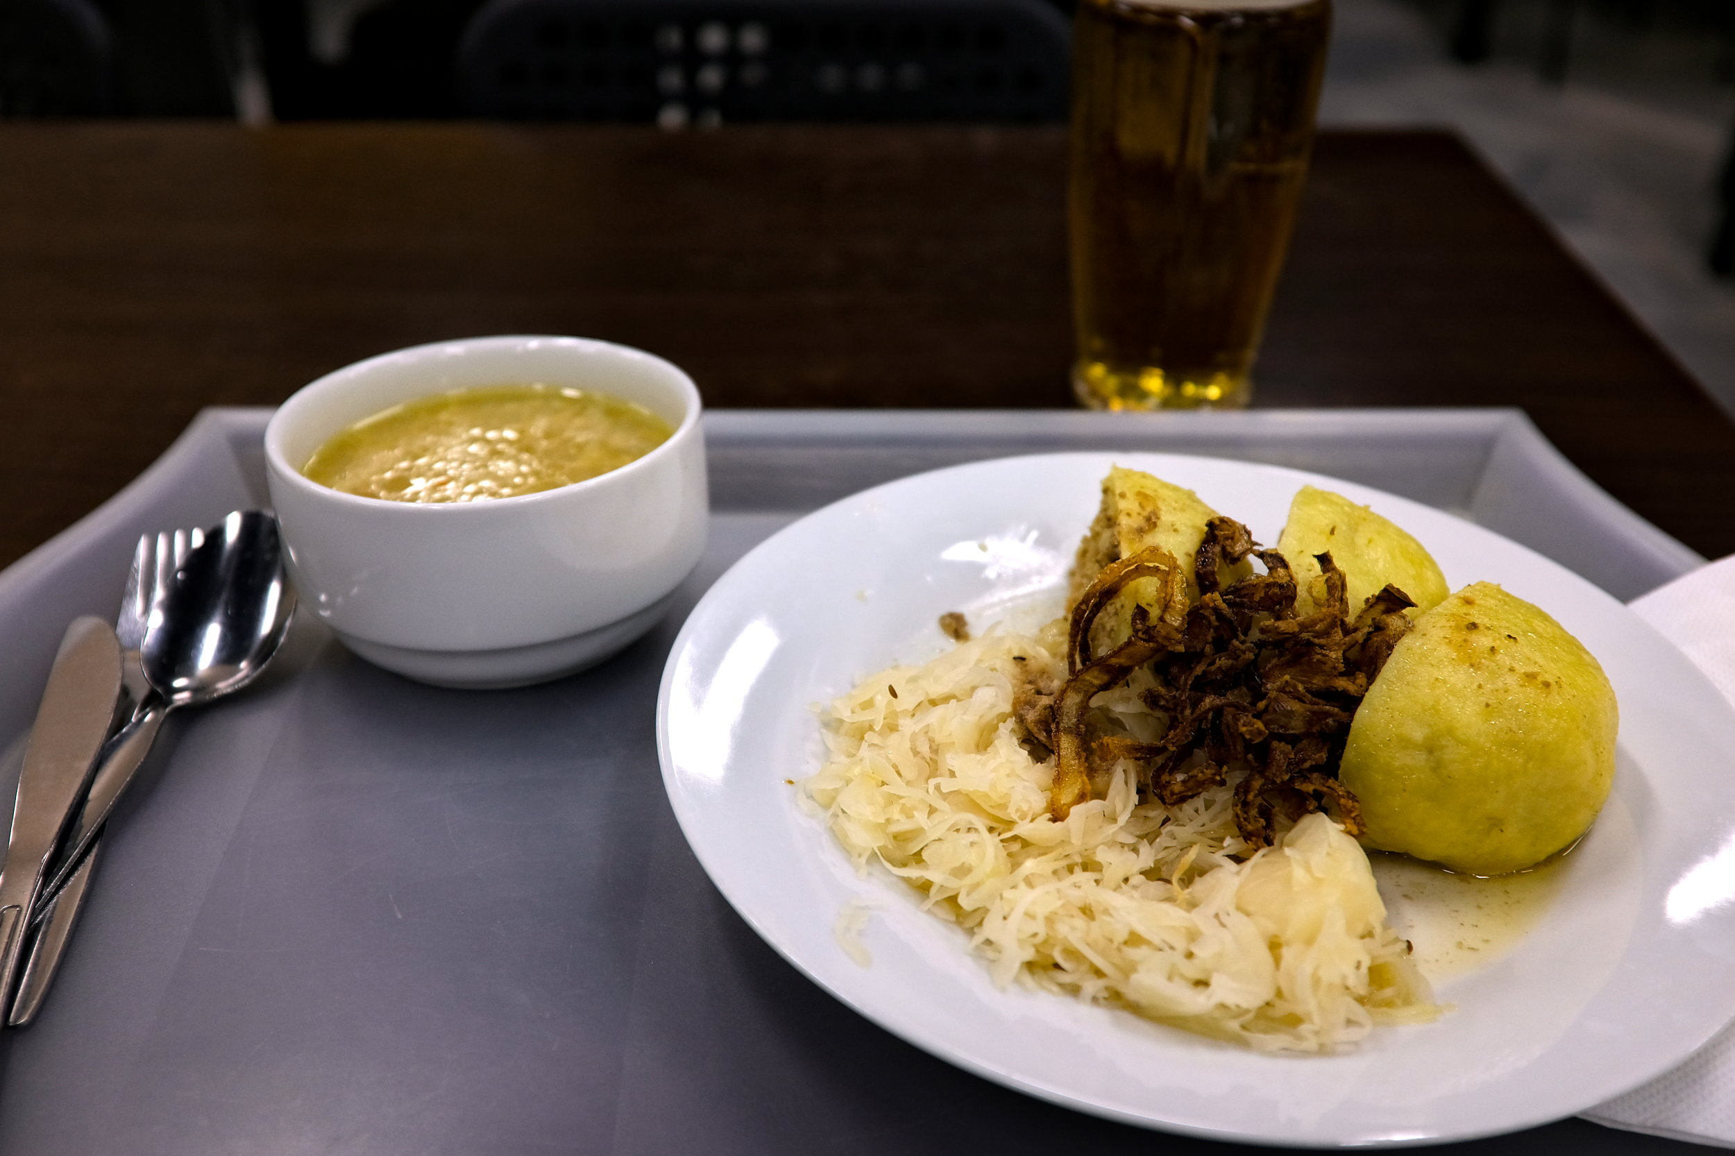
[[[1043,122],[1067,33],[1044,0],[493,0],[458,83],[510,120]]]

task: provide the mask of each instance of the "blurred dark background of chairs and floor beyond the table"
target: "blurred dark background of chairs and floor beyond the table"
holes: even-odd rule
[[[0,0],[0,116],[1064,120],[985,2]],[[1457,128],[1735,413],[1735,3],[1336,0],[1320,120]]]

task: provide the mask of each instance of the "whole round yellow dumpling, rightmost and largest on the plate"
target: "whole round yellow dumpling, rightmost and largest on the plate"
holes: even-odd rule
[[[1423,614],[1355,712],[1339,778],[1369,847],[1522,871],[1584,835],[1615,774],[1608,677],[1553,618],[1478,581]]]

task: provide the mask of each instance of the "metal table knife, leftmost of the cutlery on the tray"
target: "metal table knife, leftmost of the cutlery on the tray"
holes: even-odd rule
[[[0,870],[0,1000],[10,1007],[29,910],[90,781],[121,701],[121,653],[101,618],[75,618],[49,672],[24,750],[12,835]]]

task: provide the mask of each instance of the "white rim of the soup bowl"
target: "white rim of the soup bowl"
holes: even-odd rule
[[[510,351],[510,349],[520,349],[527,344],[543,344],[543,342],[553,345],[566,345],[569,349],[600,351],[607,354],[626,354],[628,359],[644,359],[661,368],[666,368],[673,373],[675,387],[680,392],[682,399],[687,403],[685,404],[687,411],[685,415],[682,415],[680,424],[673,429],[673,432],[670,432],[670,436],[659,446],[654,446],[642,456],[637,456],[632,462],[626,462],[625,465],[616,465],[612,470],[597,474],[595,477],[567,483],[564,486],[553,486],[552,489],[538,489],[536,493],[520,493],[507,498],[488,498],[486,502],[392,502],[389,498],[370,498],[366,495],[347,493],[344,489],[333,489],[331,486],[316,483],[314,479],[307,477],[300,469],[291,465],[288,458],[283,455],[283,448],[279,444],[283,439],[283,425],[281,425],[283,417],[286,411],[290,411],[290,408],[297,403],[298,397],[304,397],[314,389],[319,389],[323,392],[324,389],[340,387],[347,378],[361,378],[371,370],[378,368],[380,365],[390,361],[420,361],[435,358],[442,351],[448,352],[449,356],[462,358],[470,352],[496,351],[496,349]],[[432,397],[437,392],[453,392],[453,391],[429,391],[423,394],[416,394],[408,401],[415,401],[420,397]],[[680,444],[684,444],[689,437],[692,437],[694,430],[697,429],[703,410],[704,410],[704,401],[699,396],[699,387],[697,384],[694,384],[692,375],[689,375],[685,370],[682,370],[668,358],[659,358],[658,354],[649,352],[645,349],[638,349],[635,345],[623,345],[619,342],[609,342],[597,337],[571,337],[559,333],[496,333],[489,337],[458,337],[439,342],[423,342],[420,345],[404,345],[403,349],[390,349],[387,352],[378,352],[373,354],[371,358],[352,361],[345,366],[331,370],[330,373],[323,373],[314,380],[307,382],[293,394],[285,397],[283,403],[278,404],[276,411],[271,415],[271,420],[265,422],[265,437],[264,437],[265,465],[271,476],[281,477],[286,484],[293,486],[300,493],[312,495],[314,500],[337,502],[338,505],[349,505],[357,510],[373,510],[382,516],[385,514],[385,510],[404,510],[404,516],[408,517],[429,517],[429,516],[465,517],[465,514],[458,512],[489,510],[489,509],[526,509],[534,503],[566,498],[578,491],[600,489],[609,484],[625,484],[625,479],[637,476],[644,470],[656,469],[658,462],[678,453]],[[442,514],[434,514],[435,510],[442,510]],[[467,516],[486,517],[481,514],[467,514]]]

